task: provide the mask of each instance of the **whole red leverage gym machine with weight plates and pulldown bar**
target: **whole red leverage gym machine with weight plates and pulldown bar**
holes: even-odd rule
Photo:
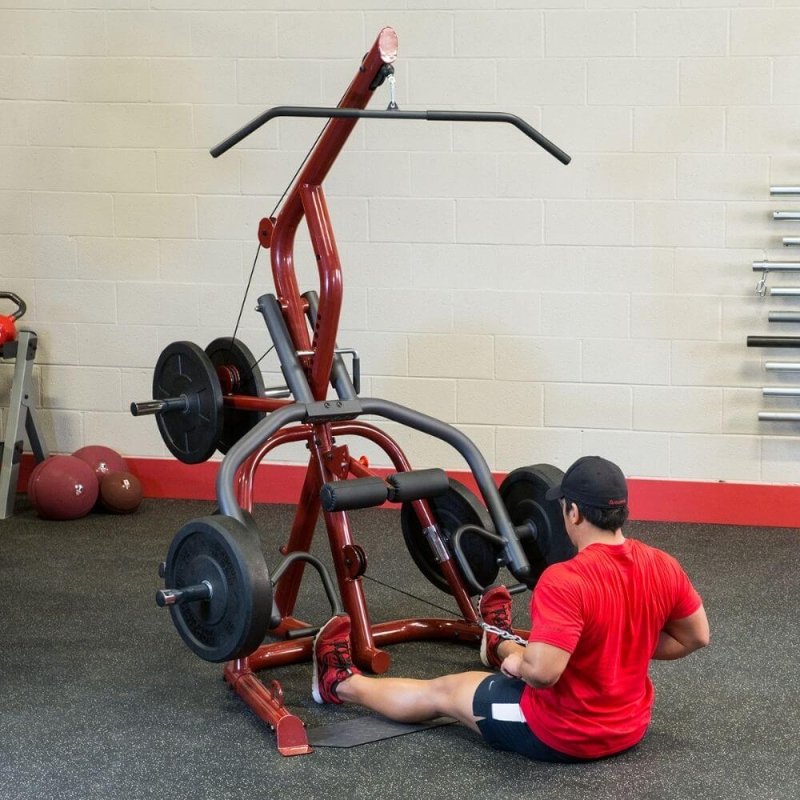
[[[288,191],[280,212],[259,225],[261,246],[271,256],[275,294],[259,298],[280,360],[285,387],[266,389],[249,350],[235,338],[205,350],[175,342],[159,357],[153,400],[134,403],[135,415],[155,414],[162,437],[180,460],[197,463],[215,449],[225,453],[216,480],[220,513],[193,520],[170,545],[161,576],[167,588],[157,601],[170,609],[186,644],[209,661],[227,662],[226,681],[276,732],[283,755],[310,752],[305,727],[285,706],[280,684],[257,673],[310,660],[316,628],[294,617],[307,565],[320,575],[335,613],[353,625],[353,656],[363,669],[384,673],[387,645],[412,640],[480,641],[482,629],[472,597],[506,567],[520,588],[531,587],[548,563],[572,555],[557,503],[546,490],[560,480],[550,465],[514,470],[498,487],[476,446],[458,429],[387,400],[359,394],[359,362],[337,346],[342,270],[322,183],[357,121],[362,118],[510,123],[564,164],[569,156],[519,117],[469,111],[401,111],[392,99],[385,111],[366,105],[387,79],[393,84],[397,37],[384,28],[336,108],[272,108],[219,144],[218,157],[270,119],[327,119],[323,132]],[[393,88],[393,86],[392,86]],[[300,293],[294,240],[305,218],[319,270],[319,292]],[[344,355],[353,356],[352,376]],[[336,398],[328,399],[329,387]],[[369,414],[435,436],[469,465],[482,502],[438,469],[412,470],[398,444]],[[337,437],[363,437],[380,447],[394,466],[381,477],[354,458]],[[284,558],[270,576],[252,510],[258,464],[275,448],[305,442],[308,469]],[[408,549],[423,574],[455,599],[461,619],[373,622],[362,575],[366,554],[353,537],[347,511],[402,504]],[[322,513],[335,570],[308,551]],[[337,593],[338,589],[338,593]],[[274,640],[264,643],[270,635]]]

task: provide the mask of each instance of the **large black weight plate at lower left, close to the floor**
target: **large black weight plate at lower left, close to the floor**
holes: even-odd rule
[[[172,540],[164,584],[181,589],[211,584],[210,600],[170,606],[181,638],[206,661],[230,661],[254,652],[272,614],[272,583],[254,529],[233,517],[201,517]]]

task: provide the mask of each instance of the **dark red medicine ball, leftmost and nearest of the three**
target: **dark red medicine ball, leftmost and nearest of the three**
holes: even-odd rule
[[[75,456],[50,456],[31,473],[28,497],[43,519],[78,519],[97,502],[94,470]]]

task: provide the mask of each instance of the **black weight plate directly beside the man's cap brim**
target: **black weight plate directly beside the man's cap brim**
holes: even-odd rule
[[[558,500],[545,499],[552,486],[558,486],[564,473],[551,464],[519,467],[500,484],[500,497],[514,526],[531,523],[535,537],[522,539],[522,549],[531,564],[531,577],[538,579],[545,567],[575,555],[567,536]]]

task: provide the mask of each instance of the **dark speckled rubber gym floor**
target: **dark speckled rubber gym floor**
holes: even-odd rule
[[[224,683],[221,665],[192,654],[154,602],[157,565],[172,536],[211,512],[211,503],[145,500],[129,517],[93,513],[46,522],[20,497],[16,515],[0,523],[4,800],[800,795],[797,530],[628,525],[629,536],[685,565],[708,609],[712,644],[682,661],[653,664],[650,731],[622,756],[586,765],[534,763],[445,725],[284,758],[272,732]],[[292,509],[259,507],[255,516],[274,568]],[[454,609],[408,556],[397,512],[352,512],[351,525],[368,556],[374,621],[445,615],[427,603]],[[322,556],[326,548],[319,532],[314,552]],[[522,626],[526,596],[514,602]],[[312,574],[298,615],[314,623],[328,616]],[[425,642],[391,652],[395,675],[479,668],[470,647]],[[317,706],[308,663],[269,677],[281,680],[287,705],[309,729],[368,714]]]

